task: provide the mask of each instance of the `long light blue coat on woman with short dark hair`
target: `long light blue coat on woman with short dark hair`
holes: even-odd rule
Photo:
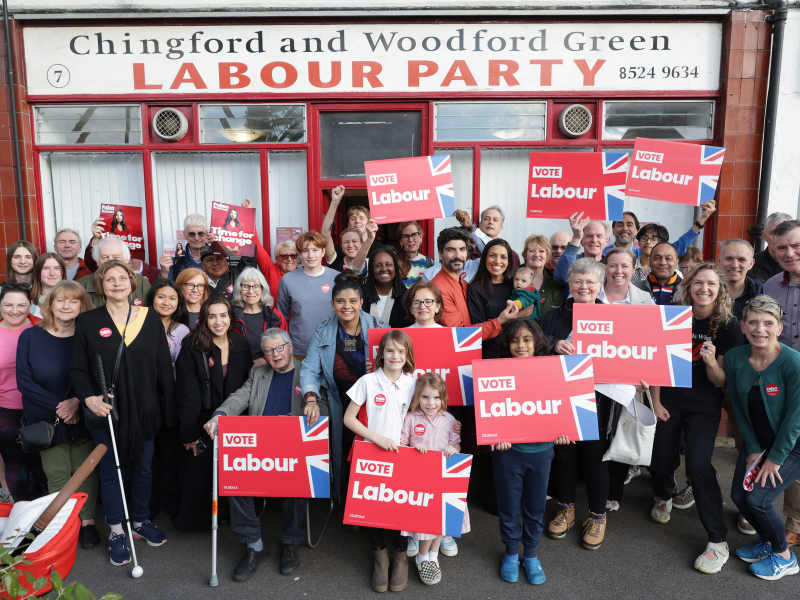
[[[361,311],[361,331],[364,339],[369,341],[370,329],[387,329],[389,326]],[[314,337],[308,346],[308,354],[300,367],[300,385],[302,394],[314,392],[320,396],[320,388],[328,392],[328,406],[330,408],[330,457],[333,467],[333,497],[337,500],[340,495],[341,470],[342,470],[342,434],[344,427],[344,408],[350,403],[349,398],[339,398],[339,389],[333,379],[333,361],[336,357],[336,333],[339,319],[331,317],[320,321],[314,331]]]

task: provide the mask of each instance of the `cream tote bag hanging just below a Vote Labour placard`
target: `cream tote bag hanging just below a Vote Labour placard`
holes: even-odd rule
[[[646,390],[645,393],[650,400],[650,407],[634,399],[629,405],[633,406],[633,412],[629,407],[622,410],[617,422],[617,431],[603,460],[613,460],[626,465],[650,465],[653,457],[653,440],[656,436],[656,415],[652,410],[653,399],[650,397],[650,390]]]

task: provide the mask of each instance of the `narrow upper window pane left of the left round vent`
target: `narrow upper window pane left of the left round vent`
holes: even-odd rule
[[[141,107],[37,106],[39,144],[141,144]]]

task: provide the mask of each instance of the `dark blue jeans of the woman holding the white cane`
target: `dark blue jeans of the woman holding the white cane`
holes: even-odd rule
[[[92,429],[92,439],[95,444],[105,444],[108,452],[100,459],[100,495],[103,498],[103,513],[106,523],[119,525],[125,518],[122,506],[122,492],[119,489],[119,476],[117,464],[114,460],[114,448],[111,445],[111,434],[107,429]],[[131,507],[132,521],[146,521],[150,518],[150,490],[153,485],[153,440],[144,442],[142,452],[142,470],[138,473],[128,474],[122,470],[122,478],[131,481]]]

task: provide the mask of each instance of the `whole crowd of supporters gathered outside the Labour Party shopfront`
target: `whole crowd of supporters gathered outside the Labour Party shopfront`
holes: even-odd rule
[[[800,543],[799,220],[772,214],[766,250],[754,254],[746,240],[731,239],[706,262],[692,243],[713,201],[674,242],[661,225],[640,227],[631,212],[611,224],[576,214],[570,231],[531,235],[517,254],[502,238],[503,210],[491,206],[477,224],[458,211],[460,226],[439,233],[434,261],[421,252],[420,223],[399,224],[397,244],[386,244],[361,206],[349,209],[335,243],[343,195],[343,187],[333,190],[322,232],[278,244],[274,260],[257,243],[254,258],[229,264],[199,214],[184,220],[182,255],[165,255],[158,267],[132,260],[121,238],[104,234],[102,222],[93,224],[83,258],[73,229],[60,230],[55,251],[42,255],[28,242],[12,244],[0,295],[3,497],[60,490],[95,444],[111,444],[111,416],[130,482],[133,535],[159,546],[167,538],[151,520],[155,511],[171,516],[179,531],[210,530],[213,467],[206,450],[220,416],[303,416],[308,425],[325,416],[331,494],[340,503],[354,440],[387,451],[402,445],[473,454],[481,500],[499,516],[506,547],[500,576],[507,582],[518,581],[521,565],[530,583],[543,583],[541,535],[564,539],[579,518],[582,546],[600,549],[624,485],[645,468],[653,482],[652,519],[666,524],[674,508],[696,504],[708,544],[695,568],[716,573],[731,553],[711,461],[725,407],[740,452],[730,491],[740,511],[737,527],[757,536],[735,554],[763,579],[800,571],[789,549]],[[574,354],[575,303],[691,307],[692,387],[636,386],[636,401],[650,394],[658,419],[650,465],[603,460],[623,407],[602,388],[598,440],[562,435],[487,447],[476,443],[470,407],[448,409],[439,375],[412,375],[406,328],[480,327],[484,359]],[[384,328],[392,331],[371,360],[369,331]],[[25,454],[17,443],[20,426],[40,421],[55,425],[56,440]],[[675,476],[682,453],[686,486]],[[761,471],[748,492],[741,482],[757,459]],[[111,530],[109,559],[120,566],[130,552],[115,469],[107,453],[80,488],[88,495],[80,545],[102,542],[95,526],[101,502]],[[579,480],[588,494],[580,509]],[[785,522],[773,507],[781,494]],[[549,497],[556,510],[547,516]],[[306,504],[284,499],[282,574],[300,565]],[[245,581],[268,554],[253,498],[227,498],[221,512],[245,547],[233,573]],[[439,553],[458,552],[452,537],[367,529],[377,592],[406,587],[409,559],[425,584],[436,584],[443,576]],[[462,532],[469,529],[465,512]]]

